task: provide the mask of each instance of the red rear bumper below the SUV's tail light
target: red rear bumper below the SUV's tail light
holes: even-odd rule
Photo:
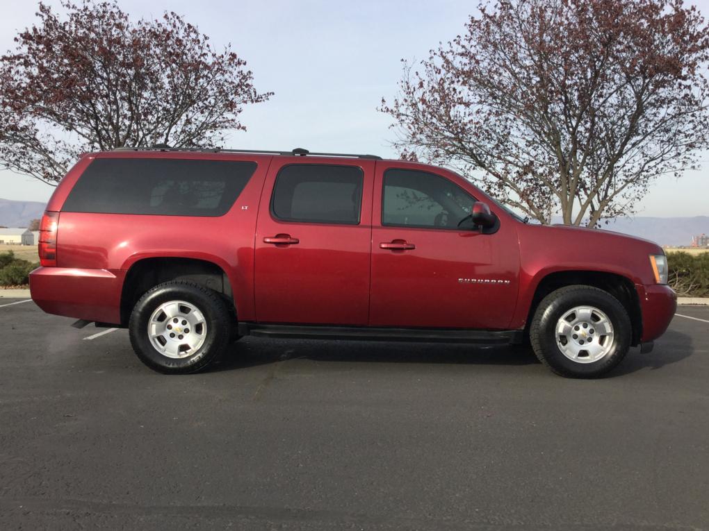
[[[30,294],[48,314],[119,324],[124,277],[122,270],[37,268]]]

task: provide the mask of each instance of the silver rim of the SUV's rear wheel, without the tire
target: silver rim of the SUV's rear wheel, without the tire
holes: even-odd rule
[[[189,358],[207,338],[206,319],[194,304],[171,300],[152,312],[147,336],[155,350],[167,358]]]

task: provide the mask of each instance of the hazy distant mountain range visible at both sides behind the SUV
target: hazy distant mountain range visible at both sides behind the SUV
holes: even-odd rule
[[[27,227],[31,219],[42,217],[44,209],[43,202],[0,199],[0,225]],[[663,246],[681,246],[689,245],[696,234],[709,234],[709,216],[623,217],[601,228],[639,236]]]

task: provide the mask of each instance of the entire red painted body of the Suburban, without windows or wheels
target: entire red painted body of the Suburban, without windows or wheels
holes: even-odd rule
[[[220,217],[61,212],[79,176],[102,157],[247,160],[257,169]],[[274,182],[289,164],[359,166],[364,172],[359,224],[274,219],[269,207]],[[500,221],[498,230],[382,226],[382,179],[392,167],[453,181],[488,203]],[[635,285],[642,341],[661,335],[676,308],[674,292],[654,282],[648,256],[662,252],[656,244],[592,229],[525,224],[456,174],[411,162],[206,152],[89,154],[57,186],[48,210],[61,212],[57,267],[33,271],[32,297],[46,312],[91,321],[120,323],[128,271],[156,257],[218,265],[228,276],[241,321],[523,329],[540,282],[564,271],[613,273]],[[298,243],[264,241],[286,235]],[[391,242],[415,248],[379,246]]]

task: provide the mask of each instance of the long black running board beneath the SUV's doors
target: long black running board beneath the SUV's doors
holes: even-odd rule
[[[522,343],[522,330],[388,329],[357,326],[239,323],[240,336],[264,338],[424,341],[431,343]]]

